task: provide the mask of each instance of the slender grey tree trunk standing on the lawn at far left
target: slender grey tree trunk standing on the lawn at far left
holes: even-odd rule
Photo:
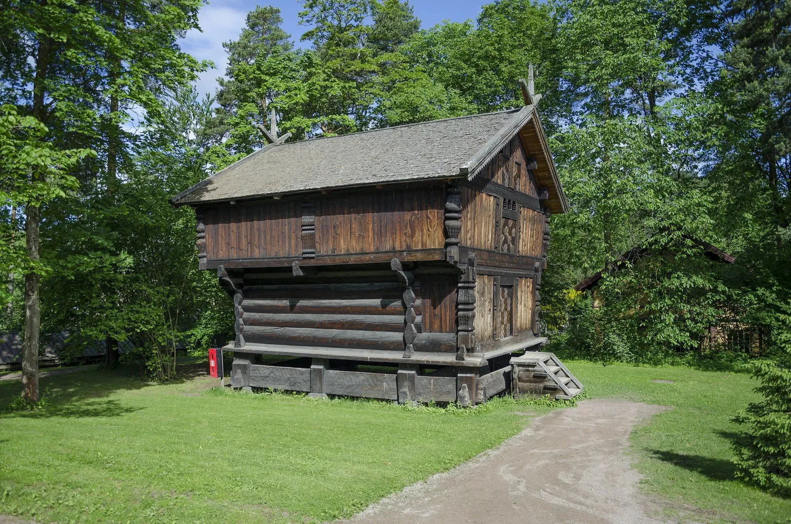
[[[39,260],[40,212],[40,207],[33,205],[28,205],[25,211],[28,257],[34,263]],[[25,338],[22,340],[22,397],[26,401],[34,403],[39,401],[40,327],[39,275],[36,271],[30,271],[25,275]]]

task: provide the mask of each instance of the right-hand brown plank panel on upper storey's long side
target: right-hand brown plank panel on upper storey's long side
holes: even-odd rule
[[[445,188],[385,189],[316,202],[316,254],[442,249]]]

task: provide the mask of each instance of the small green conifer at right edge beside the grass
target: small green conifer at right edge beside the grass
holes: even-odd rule
[[[789,306],[791,312],[791,306]],[[736,475],[780,496],[791,497],[791,313],[782,315],[774,359],[748,364],[763,401],[747,406],[733,422],[746,429],[736,442]]]

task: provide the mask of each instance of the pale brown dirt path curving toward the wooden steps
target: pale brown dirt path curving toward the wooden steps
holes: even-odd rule
[[[534,420],[496,450],[373,504],[350,522],[666,522],[623,454],[634,426],[664,408],[581,402]]]

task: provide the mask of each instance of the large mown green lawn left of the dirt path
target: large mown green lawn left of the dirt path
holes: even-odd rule
[[[90,370],[42,379],[49,406],[0,416],[0,514],[40,522],[302,522],[352,515],[516,434],[483,409],[147,385]],[[0,382],[0,408],[21,382]]]

